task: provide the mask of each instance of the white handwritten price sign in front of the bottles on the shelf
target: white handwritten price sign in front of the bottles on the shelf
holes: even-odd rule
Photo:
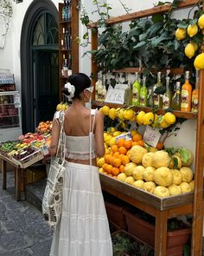
[[[105,96],[105,102],[124,104],[124,89],[109,88]]]

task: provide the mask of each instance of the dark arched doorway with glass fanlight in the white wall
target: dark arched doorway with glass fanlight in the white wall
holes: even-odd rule
[[[49,0],[30,4],[22,23],[22,131],[51,120],[59,101],[58,10]]]

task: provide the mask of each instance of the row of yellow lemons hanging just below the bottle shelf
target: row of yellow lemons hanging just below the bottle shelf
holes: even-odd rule
[[[138,125],[151,125],[153,128],[168,128],[176,121],[175,115],[171,112],[167,112],[165,115],[156,115],[152,112],[145,113],[144,111],[136,113],[132,108],[109,108],[106,105],[100,108],[100,111],[112,120],[118,118],[122,124],[124,121],[137,121]]]

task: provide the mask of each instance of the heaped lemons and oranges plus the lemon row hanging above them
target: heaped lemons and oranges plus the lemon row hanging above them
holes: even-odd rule
[[[176,121],[170,112],[158,116],[108,106],[100,111],[112,120],[134,121],[153,128],[168,128]],[[136,129],[121,132],[113,127],[105,131],[104,141],[105,155],[97,161],[100,173],[159,197],[194,191],[194,155],[188,148],[164,148],[162,141],[154,148],[143,141]]]

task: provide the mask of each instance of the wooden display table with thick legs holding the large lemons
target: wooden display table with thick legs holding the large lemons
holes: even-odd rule
[[[122,181],[99,174],[101,187],[121,200],[156,218],[155,255],[166,255],[167,220],[193,213],[194,193],[159,198]]]

